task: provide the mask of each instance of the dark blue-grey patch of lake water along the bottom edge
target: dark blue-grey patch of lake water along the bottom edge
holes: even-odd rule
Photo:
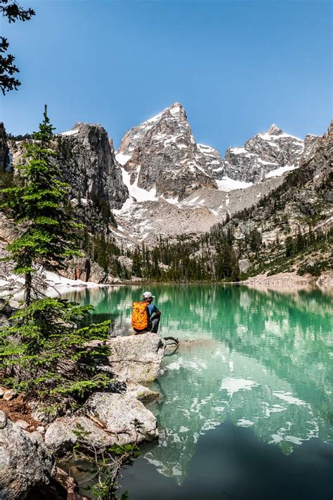
[[[333,447],[311,440],[282,454],[227,418],[200,436],[181,487],[145,459],[123,471],[131,500],[331,500]]]

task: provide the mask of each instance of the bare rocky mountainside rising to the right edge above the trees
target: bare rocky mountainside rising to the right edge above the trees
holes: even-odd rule
[[[329,231],[333,226],[332,158],[333,122],[323,136],[307,136],[299,168],[289,172],[260,207],[255,207],[245,221],[230,222],[235,226],[237,240],[244,241],[254,229],[259,231],[263,255],[269,261],[274,248],[266,255],[266,245],[276,241],[284,244],[299,233]],[[327,241],[329,251],[328,245]]]

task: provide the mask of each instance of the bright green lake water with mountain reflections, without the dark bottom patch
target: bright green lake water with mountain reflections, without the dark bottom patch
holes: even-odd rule
[[[131,332],[141,286],[73,291]],[[306,440],[332,439],[332,297],[233,286],[154,286],[162,335],[184,342],[166,357],[152,404],[161,436],[146,459],[182,483],[200,435],[226,418],[290,454]],[[101,316],[95,316],[98,319]],[[195,339],[197,342],[185,342]]]

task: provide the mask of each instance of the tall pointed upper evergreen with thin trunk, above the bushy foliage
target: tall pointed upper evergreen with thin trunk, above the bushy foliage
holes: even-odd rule
[[[79,226],[68,210],[68,186],[57,178],[52,131],[45,105],[39,132],[24,145],[27,162],[18,167],[17,185],[1,191],[2,206],[20,229],[20,236],[7,250],[15,261],[15,273],[25,275],[26,305],[32,302],[32,293],[38,293],[32,275],[39,267],[58,271],[65,267],[67,257],[78,255]]]

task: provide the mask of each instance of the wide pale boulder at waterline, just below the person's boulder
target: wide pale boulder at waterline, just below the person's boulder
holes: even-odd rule
[[[84,435],[83,440],[77,435],[78,428]],[[72,449],[78,440],[101,451],[113,444],[150,441],[157,437],[156,418],[138,399],[96,392],[80,412],[51,423],[46,430],[45,443],[55,454],[61,455]]]

